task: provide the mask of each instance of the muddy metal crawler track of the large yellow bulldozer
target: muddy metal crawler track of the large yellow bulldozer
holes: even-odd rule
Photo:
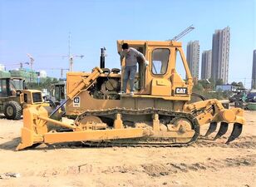
[[[184,137],[142,137],[134,139],[119,139],[119,140],[102,140],[102,141],[86,141],[83,142],[83,145],[91,147],[174,147],[174,146],[188,146],[191,143],[194,143],[199,136],[199,124],[195,117],[190,113],[185,112],[175,112],[175,111],[165,111],[160,109],[147,108],[144,110],[130,110],[125,108],[116,108],[111,110],[101,110],[101,111],[85,111],[80,116],[77,116],[76,122],[81,121],[86,116],[98,116],[98,117],[107,117],[114,119],[116,114],[121,114],[125,116],[147,116],[158,114],[159,116],[169,116],[172,120],[170,123],[174,122],[177,119],[185,118],[190,121],[191,128],[194,130],[194,136],[186,141],[180,143],[179,140]],[[188,138],[186,138],[188,139]]]

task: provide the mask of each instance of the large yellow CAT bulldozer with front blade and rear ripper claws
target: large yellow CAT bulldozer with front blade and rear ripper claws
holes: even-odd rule
[[[145,55],[149,66],[138,59],[134,95],[118,95],[123,73],[101,66],[91,72],[67,72],[65,117],[57,121],[45,104],[26,105],[23,111],[22,140],[17,150],[41,143],[82,141],[86,145],[190,145],[199,137],[201,125],[209,125],[206,135],[220,123],[214,140],[233,130],[227,143],[237,138],[245,123],[240,108],[225,109],[216,99],[190,103],[193,81],[181,42],[117,41],[128,43]],[[181,57],[187,79],[176,71]],[[125,65],[125,59],[121,60]],[[64,119],[64,118],[62,118]],[[49,129],[49,124],[59,129]]]

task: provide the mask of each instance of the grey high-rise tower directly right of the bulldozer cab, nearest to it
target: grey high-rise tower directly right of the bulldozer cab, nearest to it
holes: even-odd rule
[[[187,45],[187,62],[190,66],[191,75],[199,79],[199,41],[190,41]]]

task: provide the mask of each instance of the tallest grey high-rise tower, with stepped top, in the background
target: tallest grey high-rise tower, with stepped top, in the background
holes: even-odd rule
[[[229,27],[215,30],[213,35],[211,77],[215,81],[222,79],[224,84],[227,84],[229,80],[229,43]]]

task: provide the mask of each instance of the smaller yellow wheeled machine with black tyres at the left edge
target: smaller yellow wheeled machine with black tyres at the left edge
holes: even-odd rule
[[[0,78],[0,113],[3,113],[8,120],[20,120],[23,106],[36,103],[42,103],[42,92],[26,90],[24,79]]]

